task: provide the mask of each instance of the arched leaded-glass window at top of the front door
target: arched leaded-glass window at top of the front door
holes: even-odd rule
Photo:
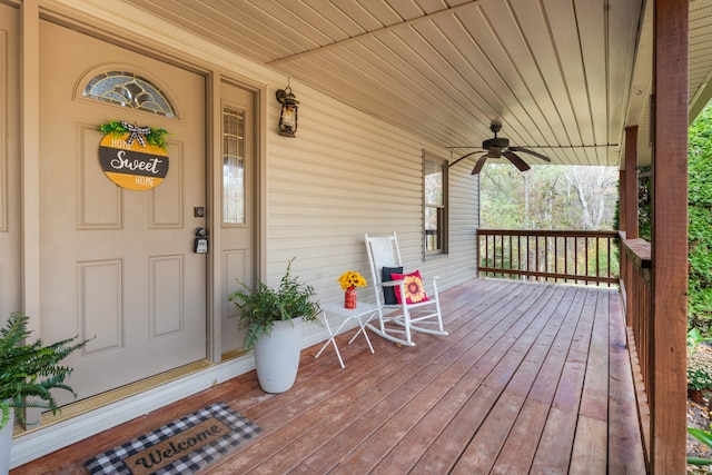
[[[134,72],[106,71],[96,75],[86,83],[81,96],[170,119],[178,118],[174,105],[164,91],[150,80]]]

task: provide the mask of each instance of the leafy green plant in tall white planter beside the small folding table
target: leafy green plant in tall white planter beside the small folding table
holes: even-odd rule
[[[318,323],[319,304],[310,285],[287,271],[277,287],[257,279],[253,289],[238,280],[239,288],[229,299],[240,313],[246,328],[245,349],[255,349],[255,368],[265,393],[284,393],[297,377],[301,352],[303,321]]]

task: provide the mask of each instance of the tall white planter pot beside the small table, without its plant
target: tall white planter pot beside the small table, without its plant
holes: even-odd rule
[[[275,321],[255,344],[257,379],[265,393],[284,393],[297,378],[301,352],[301,317]]]

